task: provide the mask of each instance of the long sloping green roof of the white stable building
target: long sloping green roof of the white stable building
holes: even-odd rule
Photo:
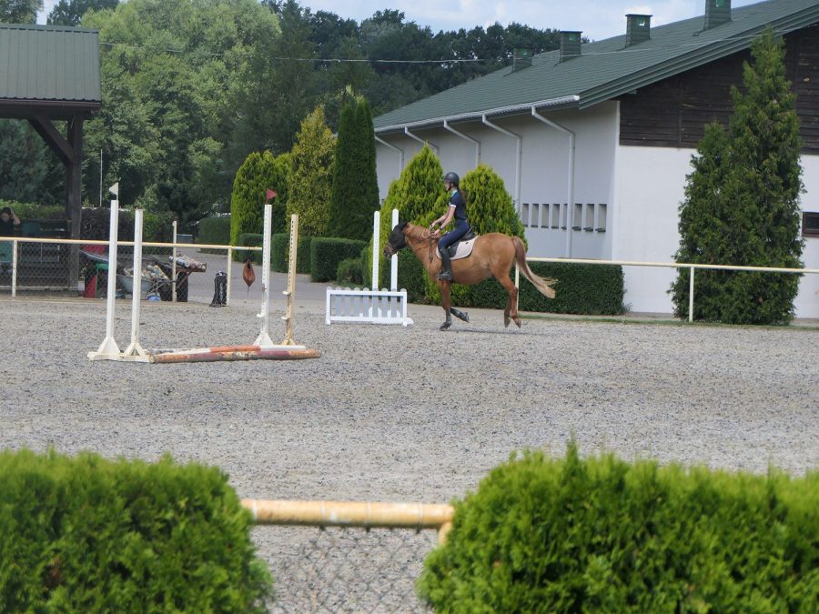
[[[559,51],[535,55],[530,67],[501,68],[378,116],[373,124],[377,133],[387,134],[444,120],[515,115],[531,106],[586,108],[743,51],[766,25],[787,34],[815,24],[819,0],[768,0],[734,8],[731,19],[709,30],[703,30],[704,16],[652,26],[651,40],[629,47],[623,32],[581,45],[581,55],[564,62]]]

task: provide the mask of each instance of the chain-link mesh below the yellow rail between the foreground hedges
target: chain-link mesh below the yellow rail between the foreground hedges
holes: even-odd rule
[[[412,528],[258,527],[271,612],[431,612],[416,595],[436,532]]]

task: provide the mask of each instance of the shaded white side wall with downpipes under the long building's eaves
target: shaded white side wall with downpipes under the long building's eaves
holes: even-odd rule
[[[585,111],[562,111],[541,115],[551,121],[575,132],[575,203],[594,207],[594,227],[600,226],[599,205],[606,205],[606,226],[612,224],[613,197],[613,164],[614,149],[617,142],[617,105],[604,103]],[[505,130],[520,135],[521,144],[521,194],[520,203],[528,205],[529,218],[524,223],[531,223],[531,212],[535,210],[540,216],[541,207],[548,204],[564,205],[569,195],[569,136],[560,130],[547,126],[531,115],[490,119],[490,122]],[[501,176],[506,190],[516,196],[516,139],[501,133],[480,120],[456,124],[459,132],[480,141],[480,162],[492,167]],[[444,171],[454,170],[461,176],[475,166],[475,145],[469,140],[454,135],[443,127],[428,130],[415,130],[413,134],[430,142],[438,148],[441,166]],[[404,135],[382,136],[392,146],[405,151],[404,164],[420,149],[417,141]],[[388,193],[389,183],[398,178],[399,155],[389,147],[377,144],[377,169],[379,173],[379,196],[383,200]],[[573,212],[574,207],[570,207]],[[551,208],[550,208],[551,212]],[[534,223],[537,223],[535,219]],[[584,222],[577,220],[577,226]],[[526,238],[529,241],[529,254],[537,257],[566,256],[566,230],[541,227],[527,227]],[[611,233],[572,231],[571,256],[586,258],[608,258],[612,252]]]

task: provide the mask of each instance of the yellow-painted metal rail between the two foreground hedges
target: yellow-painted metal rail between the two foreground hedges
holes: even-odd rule
[[[262,525],[317,527],[437,528],[443,543],[452,526],[450,505],[370,501],[292,501],[243,498],[242,506]]]

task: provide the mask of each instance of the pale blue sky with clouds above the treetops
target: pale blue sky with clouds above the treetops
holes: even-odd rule
[[[759,0],[733,0],[734,8]],[[45,0],[37,23],[45,24],[56,0]],[[580,30],[591,40],[625,34],[625,15],[652,15],[652,25],[669,24],[705,13],[705,0],[300,0],[312,12],[319,10],[361,22],[376,11],[399,10],[404,21],[439,30],[470,30],[495,22],[544,29]]]

